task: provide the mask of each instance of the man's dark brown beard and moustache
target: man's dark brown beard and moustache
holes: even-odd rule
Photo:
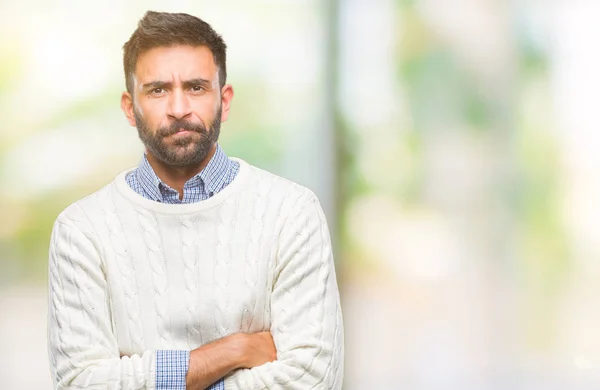
[[[156,131],[152,131],[137,110],[134,110],[134,115],[138,135],[146,150],[163,164],[171,167],[200,164],[212,150],[221,132],[221,106],[209,129],[203,123],[176,120],[168,127],[159,127]],[[181,130],[192,133],[166,142],[166,138]]]

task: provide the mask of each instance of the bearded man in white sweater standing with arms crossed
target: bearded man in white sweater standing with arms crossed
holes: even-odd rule
[[[202,20],[148,12],[121,107],[146,153],[57,218],[48,340],[59,389],[340,389],[327,225],[308,189],[217,144],[233,89]]]

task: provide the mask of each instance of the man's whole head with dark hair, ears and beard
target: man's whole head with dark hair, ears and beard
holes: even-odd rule
[[[194,16],[149,11],[123,52],[121,107],[147,152],[173,167],[205,161],[233,98],[221,36]]]

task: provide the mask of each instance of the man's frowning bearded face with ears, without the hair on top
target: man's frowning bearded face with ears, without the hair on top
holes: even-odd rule
[[[158,47],[138,57],[133,96],[124,93],[122,107],[149,154],[172,167],[197,165],[219,138],[230,88],[222,95],[210,49]]]

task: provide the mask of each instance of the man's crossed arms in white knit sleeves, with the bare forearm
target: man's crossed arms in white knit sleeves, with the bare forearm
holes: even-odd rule
[[[271,295],[271,330],[190,352],[188,389],[340,389],[343,328],[325,219],[316,198],[285,222]],[[81,278],[86,282],[83,283]],[[57,389],[154,389],[155,351],[120,356],[107,283],[92,240],[57,220],[49,261],[48,340]]]

